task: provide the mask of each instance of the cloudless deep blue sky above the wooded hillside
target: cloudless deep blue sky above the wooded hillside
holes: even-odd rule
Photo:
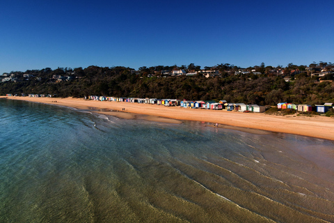
[[[333,0],[11,0],[0,8],[0,73],[334,63]]]

